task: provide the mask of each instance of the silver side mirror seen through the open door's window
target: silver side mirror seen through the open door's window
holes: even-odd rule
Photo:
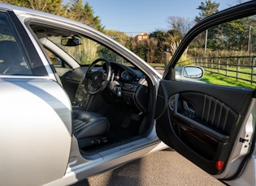
[[[204,71],[200,66],[178,66],[175,69],[176,79],[202,78]]]

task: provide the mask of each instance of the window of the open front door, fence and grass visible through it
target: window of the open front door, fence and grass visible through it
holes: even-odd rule
[[[255,58],[256,17],[236,19],[210,27],[194,38],[176,64],[176,79],[180,79],[184,66],[200,66],[204,75],[193,78],[195,82],[255,88]]]

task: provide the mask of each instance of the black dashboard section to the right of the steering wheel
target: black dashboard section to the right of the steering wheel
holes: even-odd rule
[[[149,100],[149,88],[146,76],[141,70],[119,63],[111,63],[111,82],[108,86],[108,98],[115,103],[124,103],[139,112],[145,112]]]

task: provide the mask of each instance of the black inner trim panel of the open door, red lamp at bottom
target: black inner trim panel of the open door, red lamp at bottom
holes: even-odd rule
[[[197,166],[219,175],[253,95],[252,89],[163,80],[156,109],[158,136]]]

